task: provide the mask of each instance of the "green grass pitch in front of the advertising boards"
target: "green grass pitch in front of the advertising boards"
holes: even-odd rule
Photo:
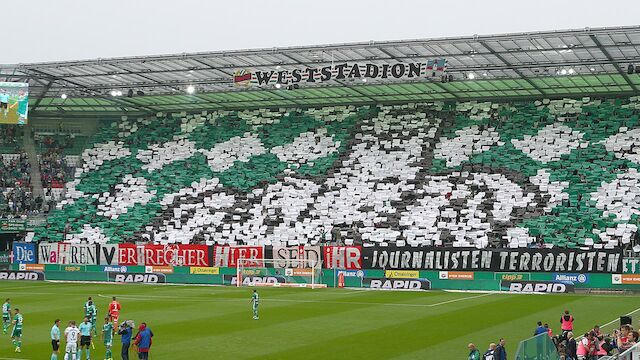
[[[63,319],[62,330],[67,321],[80,321],[88,296],[97,299],[99,318],[116,295],[121,320],[147,322],[155,334],[153,360],[466,359],[467,343],[485,349],[499,337],[513,355],[536,321],[557,330],[564,309],[584,332],[640,306],[633,296],[258,291],[260,320],[254,321],[249,288],[2,282],[0,298],[10,297],[24,314],[24,338],[17,354],[3,335],[0,359],[49,359],[53,320]],[[115,344],[119,359],[119,337]],[[99,341],[92,358],[104,358]]]

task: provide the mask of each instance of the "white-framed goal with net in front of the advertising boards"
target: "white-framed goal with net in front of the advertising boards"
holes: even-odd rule
[[[238,259],[235,285],[327,287],[322,281],[322,263],[309,259]]]

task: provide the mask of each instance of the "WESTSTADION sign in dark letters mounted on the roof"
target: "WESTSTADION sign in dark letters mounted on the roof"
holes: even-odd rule
[[[233,73],[235,86],[283,86],[301,83],[323,83],[348,79],[420,79],[443,75],[447,70],[446,59],[432,59],[414,63],[339,63],[324,67],[304,67],[252,71],[238,69]]]

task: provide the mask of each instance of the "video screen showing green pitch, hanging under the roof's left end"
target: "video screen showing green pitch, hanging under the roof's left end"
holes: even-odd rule
[[[0,124],[26,124],[29,84],[0,82]]]

